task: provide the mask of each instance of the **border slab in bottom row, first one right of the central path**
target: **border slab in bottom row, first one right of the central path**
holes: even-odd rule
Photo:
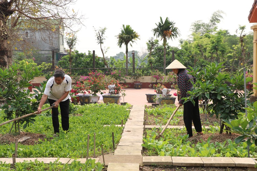
[[[144,165],[172,165],[171,156],[143,156]]]

